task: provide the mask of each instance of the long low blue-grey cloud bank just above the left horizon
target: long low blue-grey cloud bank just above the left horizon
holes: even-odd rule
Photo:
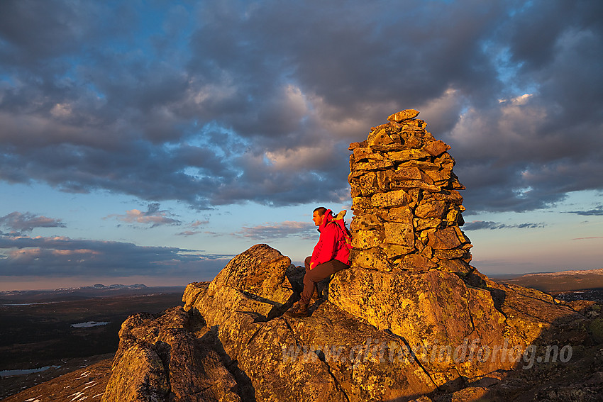
[[[128,242],[0,235],[0,272],[5,276],[216,274],[231,255]]]

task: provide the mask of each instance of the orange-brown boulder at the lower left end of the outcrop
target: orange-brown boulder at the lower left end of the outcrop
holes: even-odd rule
[[[201,318],[180,307],[129,317],[102,401],[240,401],[206,333]]]

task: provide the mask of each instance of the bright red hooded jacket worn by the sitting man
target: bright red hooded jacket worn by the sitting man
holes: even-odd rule
[[[310,266],[314,268],[316,265],[331,261],[331,259],[337,259],[343,264],[349,265],[350,250],[345,247],[345,237],[341,229],[338,228],[337,223],[332,222],[333,211],[327,209],[324,217],[323,223],[319,226],[321,237],[314,246]]]

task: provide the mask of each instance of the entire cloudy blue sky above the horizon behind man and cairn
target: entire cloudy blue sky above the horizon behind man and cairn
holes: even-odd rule
[[[348,145],[406,108],[480,272],[602,268],[602,71],[598,0],[2,0],[0,290],[302,264]]]

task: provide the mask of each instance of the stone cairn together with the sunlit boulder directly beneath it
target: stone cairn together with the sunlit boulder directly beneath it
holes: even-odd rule
[[[394,113],[350,145],[353,263],[331,283],[329,300],[443,357],[453,353],[443,346],[472,345],[480,359],[428,359],[426,369],[443,386],[511,369],[509,354],[555,320],[577,315],[551,296],[499,286],[470,267],[472,245],[460,230],[464,187],[450,146],[434,139],[418,114]]]

